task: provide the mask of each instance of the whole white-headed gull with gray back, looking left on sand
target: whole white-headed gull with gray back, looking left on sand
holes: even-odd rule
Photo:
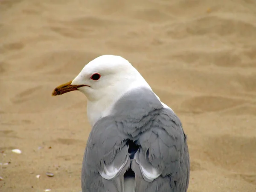
[[[177,115],[131,63],[99,56],[52,96],[78,90],[92,127],[81,169],[82,192],[186,192],[187,136]]]

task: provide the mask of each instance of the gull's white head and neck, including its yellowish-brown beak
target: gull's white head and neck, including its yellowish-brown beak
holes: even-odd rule
[[[53,96],[79,90],[87,96],[87,116],[90,124],[108,115],[113,104],[135,87],[150,86],[126,59],[116,55],[102,55],[90,61],[73,81],[62,84]]]

